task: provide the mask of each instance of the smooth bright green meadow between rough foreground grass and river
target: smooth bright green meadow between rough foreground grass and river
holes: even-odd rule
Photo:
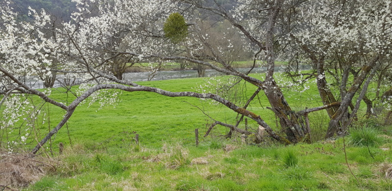
[[[170,91],[194,91],[191,89],[196,84],[202,84],[204,79],[181,79],[154,82],[139,82],[141,85],[154,86]],[[247,85],[247,96],[252,94],[254,87]],[[287,93],[289,104],[295,110],[319,106],[317,90],[307,90],[303,93],[283,89]],[[64,94],[53,92],[52,97],[65,100]],[[69,100],[71,100],[69,98]],[[150,146],[162,146],[162,140],[189,140],[193,142],[194,129],[199,128],[201,134],[206,131],[205,124],[211,122],[199,109],[190,104],[204,109],[210,116],[217,120],[234,124],[236,113],[225,107],[214,107],[206,101],[196,98],[178,97],[171,98],[150,92],[123,92],[117,106],[106,106],[98,110],[99,105],[88,104],[79,106],[68,122],[71,140],[78,142],[101,142],[106,139],[121,137],[127,132],[137,132],[141,136],[141,141]],[[261,115],[261,117],[275,127],[275,118],[269,106],[268,100],[260,94],[260,102],[254,101],[249,110]],[[64,111],[49,106],[51,128],[55,127]],[[323,116],[323,111],[310,115],[311,122],[315,125],[319,118]],[[53,120],[53,118],[55,120]],[[316,120],[312,120],[315,118]],[[57,119],[57,121],[56,121]],[[249,120],[249,126],[256,129],[258,125]],[[45,134],[48,129],[47,122],[40,131]],[[226,128],[217,127],[220,133],[227,131]],[[125,133],[124,133],[125,132]],[[56,136],[54,143],[69,143],[68,131],[62,129]],[[218,132],[217,132],[218,133]],[[192,140],[191,140],[192,139]],[[118,141],[111,141],[116,144]]]

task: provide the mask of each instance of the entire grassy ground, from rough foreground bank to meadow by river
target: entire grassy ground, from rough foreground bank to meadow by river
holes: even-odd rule
[[[203,79],[140,82],[171,91],[190,91]],[[312,84],[314,85],[314,84]],[[252,88],[248,85],[248,95]],[[321,105],[317,90],[302,93],[283,89],[295,110]],[[53,97],[64,100],[60,93]],[[184,101],[205,109],[221,121],[233,123],[235,113],[212,107],[194,98],[169,98],[146,92],[124,92],[114,108],[98,105],[80,106],[68,123],[53,138],[53,150],[64,142],[66,151],[59,156],[60,165],[28,190],[360,190],[345,166],[343,140],[297,144],[288,147],[271,141],[262,147],[242,145],[240,135],[224,140],[227,129],[217,127],[212,136],[200,137],[194,145],[194,129],[200,135],[208,122],[198,109]],[[261,103],[261,105],[260,105]],[[275,119],[265,96],[252,103],[250,110],[260,114],[272,127]],[[264,107],[264,109],[263,109]],[[50,117],[63,112],[51,108]],[[325,133],[325,113],[312,113],[312,132],[317,138]],[[58,120],[58,119],[57,119]],[[55,126],[55,119],[51,127]],[[250,122],[250,127],[257,125]],[[391,127],[390,127],[391,128]],[[48,124],[41,127],[43,135]],[[140,135],[140,145],[133,139]],[[347,147],[347,157],[353,172],[366,190],[391,190],[391,181],[378,171],[383,162],[391,163],[391,133],[370,147]],[[69,141],[72,140],[72,144]],[[229,145],[229,146],[226,146]],[[231,145],[231,146],[230,146]],[[379,147],[389,148],[383,151]],[[236,147],[227,152],[226,147]],[[49,149],[47,149],[48,151]],[[298,158],[297,165],[287,167],[285,156],[291,151]],[[193,160],[193,161],[192,161]],[[192,161],[192,163],[191,163]]]

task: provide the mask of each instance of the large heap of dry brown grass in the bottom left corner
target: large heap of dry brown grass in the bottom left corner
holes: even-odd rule
[[[25,188],[38,181],[47,171],[55,170],[53,163],[48,158],[31,154],[0,152],[0,189]]]

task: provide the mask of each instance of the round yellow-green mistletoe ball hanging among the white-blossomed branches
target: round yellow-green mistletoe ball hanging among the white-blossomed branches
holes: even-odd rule
[[[188,26],[185,18],[179,13],[170,14],[163,25],[163,31],[172,43],[178,44],[188,35]]]

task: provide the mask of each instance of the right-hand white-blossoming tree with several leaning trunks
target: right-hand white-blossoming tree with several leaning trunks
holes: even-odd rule
[[[287,36],[296,59],[307,59],[313,65],[314,72],[305,76],[317,78],[323,104],[341,102],[327,109],[331,119],[327,138],[336,132],[344,134],[361,100],[370,102],[365,95],[371,79],[377,71],[383,71],[381,75],[388,73],[391,8],[390,0],[323,0],[307,4],[302,7],[300,22],[295,23],[295,29]],[[333,77],[329,83],[327,74]],[[331,89],[333,82],[339,84],[337,96]],[[386,85],[390,87],[391,83]],[[377,89],[380,91],[380,85]],[[353,104],[355,95],[358,98]]]

